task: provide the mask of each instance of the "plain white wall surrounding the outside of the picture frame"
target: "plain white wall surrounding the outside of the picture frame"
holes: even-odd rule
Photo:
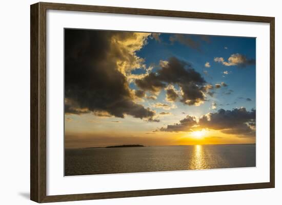
[[[264,190],[228,191],[215,193],[104,199],[95,201],[61,202],[52,204],[281,204],[282,148],[279,127],[282,108],[279,80],[282,66],[282,13],[279,1],[128,1],[81,0],[49,1],[58,3],[183,10],[274,16],[276,24],[276,188]],[[0,203],[32,204],[29,200],[29,97],[30,97],[30,4],[36,1],[2,1],[0,11]]]

